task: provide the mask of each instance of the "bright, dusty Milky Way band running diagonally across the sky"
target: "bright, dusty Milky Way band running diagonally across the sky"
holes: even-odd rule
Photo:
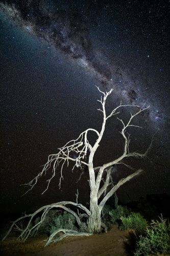
[[[92,72],[102,87],[113,88],[114,95],[125,103],[151,105],[145,120],[152,121],[153,126],[155,122],[162,126],[165,122],[165,110],[161,108],[160,99],[157,98],[156,102],[156,96],[147,90],[143,77],[135,77],[135,68],[125,69],[121,63],[111,61],[106,54],[101,54],[100,50],[94,47],[87,6],[81,9],[74,2],[70,4],[65,1],[62,5],[60,1],[56,3],[2,1],[1,8],[26,32],[48,42],[50,46]],[[149,59],[150,55],[145,54],[145,58]],[[169,119],[166,122],[169,122]]]

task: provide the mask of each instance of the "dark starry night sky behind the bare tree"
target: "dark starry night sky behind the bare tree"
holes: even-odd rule
[[[128,164],[145,173],[117,190],[120,201],[170,193],[170,2],[0,1],[1,212],[33,211],[62,200],[88,207],[88,173],[60,169],[48,190],[49,171],[25,196],[47,156],[57,153],[88,128],[100,131],[101,94],[114,89],[107,113],[123,104],[150,108],[133,121],[131,151],[144,152],[155,135],[149,161]],[[125,122],[135,107],[122,108]],[[122,124],[112,117],[96,152],[94,166],[123,153]],[[93,134],[89,140],[95,141]],[[72,157],[76,157],[73,153]],[[113,180],[132,170],[114,168]],[[111,199],[109,203],[113,203]]]

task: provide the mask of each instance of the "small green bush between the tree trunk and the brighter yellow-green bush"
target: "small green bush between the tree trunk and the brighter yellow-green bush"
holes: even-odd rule
[[[126,217],[130,214],[130,212],[131,208],[118,205],[116,209],[109,211],[112,224],[118,224],[118,220],[120,220],[120,217]]]

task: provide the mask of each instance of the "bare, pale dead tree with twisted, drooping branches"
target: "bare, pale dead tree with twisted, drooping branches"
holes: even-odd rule
[[[99,88],[98,88],[98,90],[100,91]],[[36,185],[38,179],[42,175],[45,175],[45,173],[47,171],[49,172],[49,170],[51,169],[52,177],[49,180],[47,180],[48,184],[47,184],[46,189],[44,190],[44,192],[45,192],[48,189],[48,186],[49,186],[51,180],[55,177],[56,171],[57,171],[59,165],[61,165],[61,169],[60,169],[61,177],[59,180],[59,188],[60,188],[61,181],[63,179],[63,167],[64,167],[65,163],[68,165],[69,162],[73,162],[74,167],[72,168],[72,170],[75,167],[79,168],[79,169],[82,169],[82,168],[84,169],[84,166],[87,166],[88,172],[89,172],[89,186],[90,186],[90,205],[89,205],[89,207],[90,208],[87,209],[85,206],[78,203],[78,201],[76,203],[70,202],[70,201],[63,201],[63,202],[43,206],[40,209],[38,209],[36,212],[34,212],[34,214],[31,214],[28,216],[25,215],[25,216],[19,218],[18,220],[16,220],[15,222],[13,222],[13,224],[12,224],[10,230],[8,231],[7,235],[5,236],[5,238],[8,236],[12,227],[13,226],[16,227],[16,222],[22,220],[23,218],[28,218],[28,217],[30,217],[30,221],[25,229],[20,230],[21,234],[20,234],[19,238],[21,238],[22,241],[24,241],[30,235],[33,236],[34,234],[36,234],[39,226],[44,221],[45,216],[48,213],[48,211],[51,210],[52,208],[62,208],[64,210],[66,210],[67,212],[69,212],[70,214],[74,215],[79,226],[82,225],[82,218],[86,217],[88,231],[86,233],[80,233],[75,230],[58,229],[53,234],[51,234],[46,245],[48,245],[51,242],[57,242],[57,241],[61,240],[62,238],[68,237],[68,236],[89,236],[92,233],[99,233],[101,226],[104,227],[105,231],[107,232],[107,227],[105,226],[104,223],[101,222],[101,211],[102,211],[105,203],[115,193],[115,191],[120,186],[122,186],[127,181],[131,180],[133,177],[137,176],[139,173],[141,173],[143,171],[142,169],[137,169],[137,170],[134,169],[133,167],[125,164],[125,162],[123,160],[127,159],[127,158],[131,158],[131,157],[133,157],[133,158],[147,157],[147,154],[152,146],[152,141],[153,141],[153,140],[151,141],[150,146],[148,147],[147,151],[144,153],[137,153],[137,152],[129,151],[130,135],[127,133],[126,130],[128,127],[134,127],[134,126],[139,127],[137,125],[132,124],[133,118],[135,116],[137,116],[138,114],[140,114],[145,109],[149,108],[149,107],[144,108],[144,106],[142,106],[142,108],[139,108],[139,106],[133,105],[132,107],[137,108],[138,110],[136,111],[135,114],[131,113],[131,116],[127,123],[125,123],[122,119],[118,118],[118,120],[123,125],[122,131],[120,132],[124,138],[124,152],[123,152],[122,156],[118,157],[117,159],[113,159],[111,162],[105,163],[102,166],[96,166],[96,167],[93,166],[93,157],[94,157],[94,154],[95,154],[96,150],[98,149],[100,141],[103,137],[103,134],[105,131],[105,126],[106,126],[106,121],[110,117],[118,114],[119,113],[118,109],[122,108],[123,106],[129,106],[129,105],[122,105],[122,103],[120,103],[119,106],[117,106],[109,115],[107,115],[106,110],[105,110],[105,103],[106,103],[106,99],[107,99],[108,95],[110,95],[112,91],[113,91],[112,89],[106,93],[100,91],[103,95],[103,97],[101,96],[101,100],[98,100],[102,105],[102,109],[99,109],[99,111],[101,111],[103,113],[103,124],[102,124],[102,128],[101,128],[100,132],[96,131],[95,129],[87,129],[86,131],[81,133],[77,139],[70,140],[63,147],[58,148],[57,154],[52,154],[52,155],[48,156],[48,160],[47,160],[46,164],[44,165],[42,172],[40,172],[29,183],[23,184],[23,185],[29,186],[30,187],[29,190],[31,190]],[[88,138],[87,138],[89,131],[94,132],[97,135],[97,139],[93,145],[90,144],[90,142],[88,141]],[[76,155],[77,155],[76,159],[71,157],[71,155],[72,155],[71,153],[73,153],[73,152],[76,153]],[[113,181],[111,179],[111,169],[112,169],[112,166],[115,166],[117,164],[124,164],[126,167],[131,168],[133,173],[131,175],[125,177],[124,179],[119,180],[117,184],[113,185]],[[96,169],[99,169],[99,172],[97,175],[95,175]],[[104,172],[106,172],[105,179],[102,178]],[[107,193],[106,191],[107,191],[108,186],[111,186],[111,189]],[[101,196],[102,196],[102,200],[100,201],[100,203],[98,203],[99,199],[101,199]],[[77,195],[77,197],[78,197],[78,195]],[[78,209],[82,209],[84,211],[84,213],[80,214],[79,210],[78,210],[78,213],[76,213],[75,211],[72,211],[70,208],[65,206],[67,204],[76,206]],[[34,216],[36,214],[38,214],[38,212],[41,212],[41,211],[43,211],[43,213],[42,213],[40,221],[36,225],[32,226],[31,222],[32,222]],[[54,236],[58,232],[61,232],[61,231],[64,233],[63,236],[59,237],[58,239],[52,240],[54,238]]]

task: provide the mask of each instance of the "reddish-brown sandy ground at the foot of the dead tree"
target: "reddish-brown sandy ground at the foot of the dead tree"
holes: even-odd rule
[[[1,242],[1,256],[95,256],[133,255],[136,238],[133,232],[120,231],[113,225],[107,233],[90,237],[69,237],[44,248],[46,237],[29,238],[20,243],[14,238]]]

